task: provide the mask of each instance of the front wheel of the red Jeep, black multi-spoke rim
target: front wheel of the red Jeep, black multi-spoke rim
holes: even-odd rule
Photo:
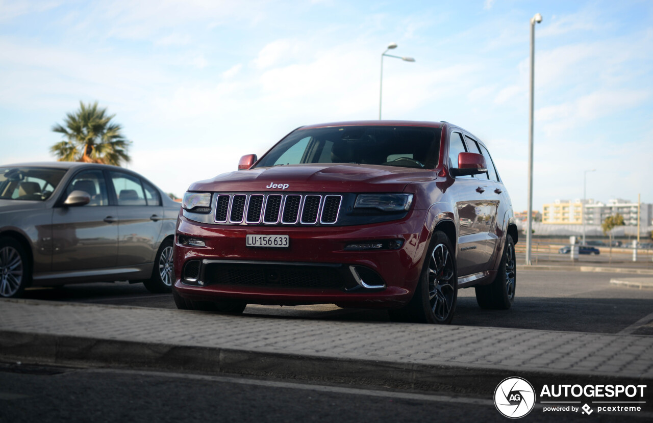
[[[458,272],[456,255],[444,232],[434,232],[422,263],[422,273],[410,302],[390,310],[390,319],[402,322],[449,324],[456,311]]]

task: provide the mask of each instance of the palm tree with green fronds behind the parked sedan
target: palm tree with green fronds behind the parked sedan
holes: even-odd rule
[[[52,127],[64,140],[50,148],[58,161],[81,161],[120,166],[131,160],[127,149],[131,141],[121,134],[122,127],[111,122],[116,115],[108,116],[106,108],[98,108],[97,101],[84,104],[74,113],[66,115],[63,123]]]

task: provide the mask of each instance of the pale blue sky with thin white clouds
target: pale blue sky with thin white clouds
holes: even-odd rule
[[[52,160],[79,101],[116,114],[129,168],[165,191],[300,125],[446,120],[479,136],[525,210],[530,18],[534,208],[653,202],[653,2],[0,0],[0,164]]]

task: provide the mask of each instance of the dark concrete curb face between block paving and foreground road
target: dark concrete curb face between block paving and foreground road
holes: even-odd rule
[[[212,375],[275,377],[299,381],[487,394],[505,377],[543,384],[648,384],[652,377],[605,372],[516,369],[512,366],[415,364],[360,358],[268,353],[0,330],[0,359],[59,366],[133,368]],[[653,394],[651,395],[653,396]],[[651,398],[646,398],[650,401]]]

